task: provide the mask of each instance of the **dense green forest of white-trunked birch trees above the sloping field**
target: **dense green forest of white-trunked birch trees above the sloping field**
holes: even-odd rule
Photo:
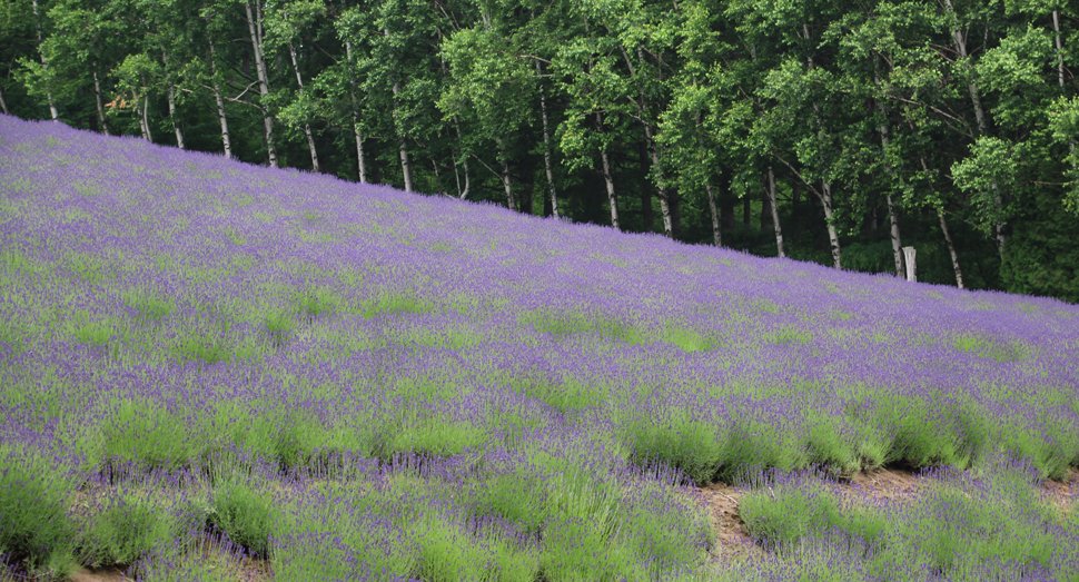
[[[14,0],[0,106],[764,256],[1079,302],[1062,0]]]

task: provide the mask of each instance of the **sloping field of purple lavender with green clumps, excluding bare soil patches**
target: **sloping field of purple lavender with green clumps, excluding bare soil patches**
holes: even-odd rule
[[[6,116],[0,411],[14,580],[1079,580],[1079,307]]]

